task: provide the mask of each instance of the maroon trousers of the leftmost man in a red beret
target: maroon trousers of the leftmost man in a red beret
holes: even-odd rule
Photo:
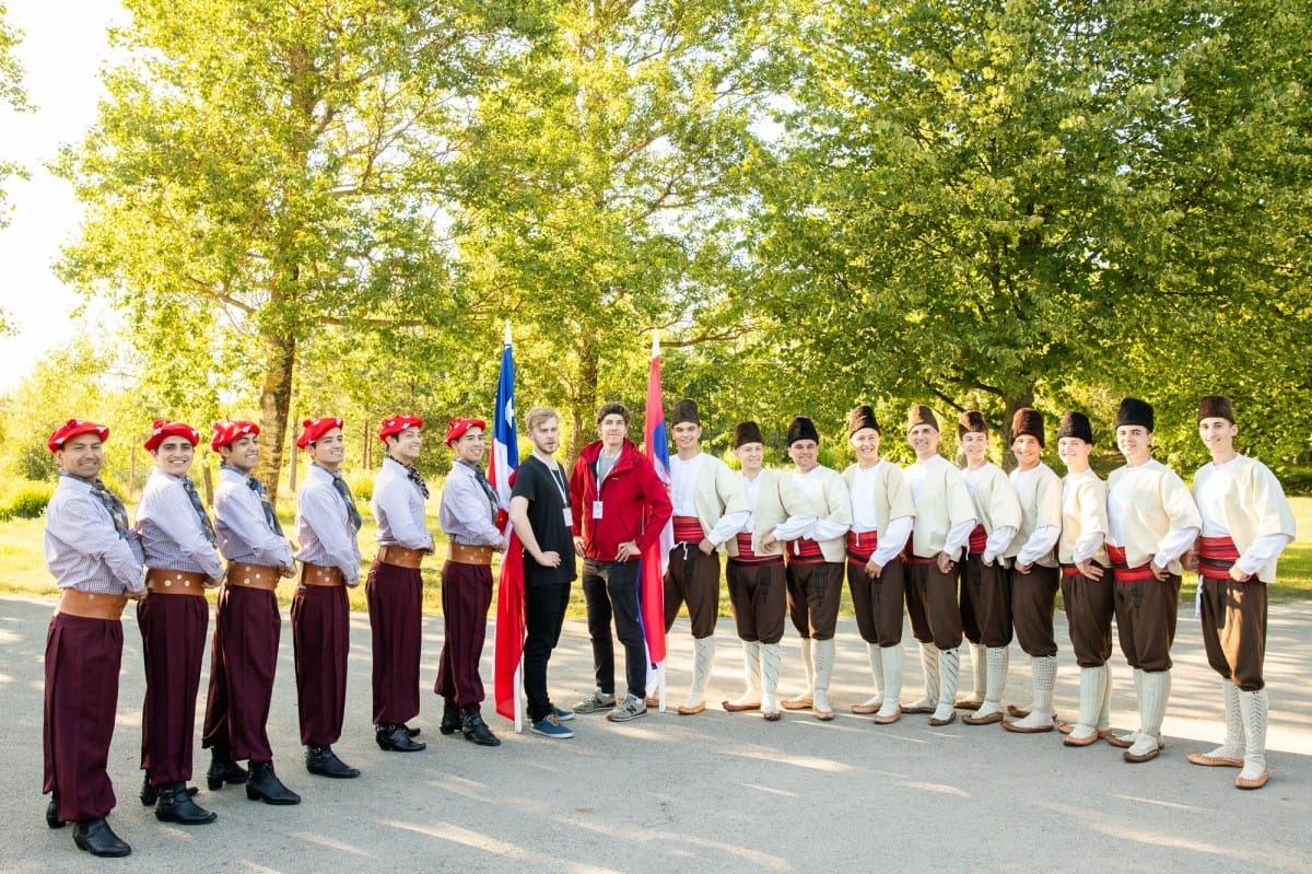
[[[60,822],[100,819],[114,808],[105,772],[118,710],[123,623],[56,613],[46,631],[42,793],[58,793]]]

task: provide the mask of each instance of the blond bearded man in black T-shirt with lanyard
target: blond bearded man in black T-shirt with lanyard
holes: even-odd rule
[[[560,625],[569,604],[575,570],[569,517],[569,486],[554,453],[560,444],[560,417],[550,407],[534,407],[527,416],[533,454],[514,475],[510,524],[523,543],[523,693],[529,698],[533,731],[547,738],[573,738],[562,722],[573,713],[551,703],[547,661],[560,640]]]

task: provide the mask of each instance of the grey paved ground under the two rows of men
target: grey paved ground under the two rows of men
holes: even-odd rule
[[[789,714],[770,724],[718,707],[698,717],[652,714],[627,726],[581,715],[572,723],[577,736],[564,741],[517,736],[493,718],[504,744],[483,749],[436,731],[441,705],[426,689],[417,724],[429,748],[383,753],[369,724],[369,623],[354,615],[346,736],[336,749],[363,776],[341,782],[303,769],[285,618],[270,734],[278,772],[304,802],[269,807],[247,801],[240,787],[202,789],[198,801],[219,820],[190,829],[157,823],[136,801],[142,669],[129,621],[110,770],[119,795],[112,823],[134,853],[94,864],[73,848],[71,829],[50,831],[42,820],[41,661],[51,606],[0,598],[4,871],[1312,870],[1309,604],[1271,610],[1274,777],[1256,793],[1233,789],[1233,769],[1185,761],[1187,749],[1210,748],[1223,734],[1219,681],[1203,661],[1197,621],[1185,615],[1166,751],[1144,765],[1122,762],[1120,751],[1106,744],[1064,748],[1056,732],[1022,736],[960,722],[930,728],[926,717],[876,727],[848,714],[828,724]],[[1059,626],[1064,640],[1060,617]],[[430,682],[440,621],[429,619],[425,631]],[[718,640],[712,701],[737,694],[741,673],[731,621],[720,622]],[[691,652],[684,621],[670,650],[669,697],[677,702]],[[785,689],[800,673],[795,654],[786,638]],[[590,661],[583,623],[567,623],[551,671],[560,703],[590,689]],[[830,697],[845,711],[870,694],[865,648],[850,621],[840,626],[838,661]],[[1114,722],[1128,726],[1130,672],[1119,659],[1114,672]],[[918,689],[918,673],[908,650],[904,701]],[[1027,661],[1014,650],[1006,698],[1027,701]],[[201,713],[203,688],[205,677]],[[1064,648],[1061,713],[1075,711],[1076,694]],[[209,759],[199,739],[197,745],[203,783]]]

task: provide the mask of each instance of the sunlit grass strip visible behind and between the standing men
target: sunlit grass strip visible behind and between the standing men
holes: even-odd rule
[[[1275,584],[1269,589],[1270,601],[1282,604],[1288,601],[1305,601],[1312,598],[1312,497],[1295,496],[1290,499],[1294,507],[1294,516],[1298,520],[1302,539],[1295,541],[1281,556],[1279,573]],[[281,514],[286,530],[293,530],[293,520],[289,514]],[[429,530],[438,531],[437,520],[429,514]],[[43,518],[9,520],[0,522],[0,567],[5,568],[5,575],[0,579],[0,594],[25,597],[55,597],[59,594],[54,579],[46,571],[42,556],[45,538]],[[442,612],[442,563],[446,560],[446,538],[437,533],[437,555],[424,562],[424,612],[438,615]],[[374,556],[374,524],[366,513],[365,526],[359,531],[361,552],[363,567],[361,580]],[[492,577],[500,572],[500,559],[492,562]],[[1185,584],[1181,587],[1179,598],[1182,604],[1194,600],[1194,591],[1198,580],[1193,573],[1185,575]],[[278,601],[283,606],[291,604],[294,587],[285,583],[278,589]],[[215,593],[210,593],[210,601],[215,600]],[[365,610],[365,587],[356,587],[349,592],[350,608]],[[493,596],[493,610],[495,606]],[[850,615],[851,601],[844,587],[842,613]],[[583,588],[575,583],[569,594],[569,618],[583,618],[585,615]],[[720,587],[720,615],[729,615],[728,588]]]

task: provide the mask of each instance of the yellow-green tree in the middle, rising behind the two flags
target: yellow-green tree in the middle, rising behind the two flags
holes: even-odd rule
[[[454,232],[475,312],[526,328],[518,394],[564,404],[571,454],[598,400],[642,398],[653,328],[669,349],[743,331],[701,316],[724,291],[719,218],[747,194],[779,8],[565,0],[480,96]]]

